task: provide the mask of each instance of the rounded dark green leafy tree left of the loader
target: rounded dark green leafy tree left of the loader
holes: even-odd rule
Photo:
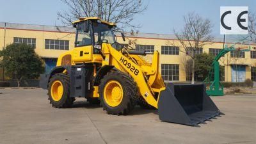
[[[18,87],[21,80],[36,79],[44,72],[42,59],[31,45],[10,44],[0,51],[0,57],[6,75],[15,79]]]

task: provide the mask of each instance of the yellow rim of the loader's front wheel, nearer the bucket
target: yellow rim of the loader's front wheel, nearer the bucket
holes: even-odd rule
[[[123,88],[118,81],[109,81],[104,88],[104,100],[111,106],[118,106],[123,100]]]

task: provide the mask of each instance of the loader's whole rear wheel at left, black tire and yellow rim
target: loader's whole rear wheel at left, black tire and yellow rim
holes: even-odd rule
[[[54,108],[69,108],[74,102],[74,98],[70,98],[70,82],[66,74],[54,74],[51,77],[48,86],[48,96],[50,104]]]

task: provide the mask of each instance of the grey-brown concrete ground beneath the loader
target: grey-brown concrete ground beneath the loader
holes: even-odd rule
[[[55,109],[46,91],[0,89],[0,143],[256,143],[256,96],[212,97],[225,116],[201,127],[161,122],[157,111],[107,115],[84,99]]]

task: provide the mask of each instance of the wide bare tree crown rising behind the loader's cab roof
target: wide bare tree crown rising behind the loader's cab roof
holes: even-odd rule
[[[100,17],[102,20],[138,27],[131,22],[134,16],[144,12],[147,6],[141,0],[61,0],[68,10],[58,12],[63,24],[68,24],[80,17]]]

